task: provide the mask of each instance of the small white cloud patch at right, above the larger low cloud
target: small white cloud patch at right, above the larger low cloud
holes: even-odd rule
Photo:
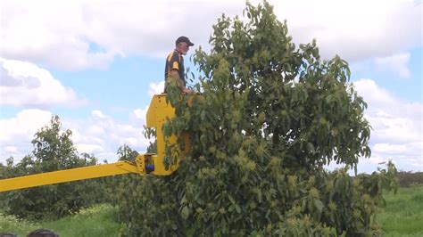
[[[411,71],[408,68],[410,53],[398,53],[375,60],[377,70],[393,72],[400,78],[410,78]]]

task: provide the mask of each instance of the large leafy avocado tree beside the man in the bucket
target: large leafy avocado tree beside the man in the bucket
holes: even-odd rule
[[[132,184],[120,207],[128,233],[380,233],[371,217],[395,168],[347,173],[370,156],[366,103],[348,63],[321,60],[314,40],[296,47],[267,2],[247,3],[244,15],[222,15],[211,52],[196,50],[201,94],[170,89],[177,116],[164,134],[190,135],[191,149],[181,158],[178,145],[167,147],[168,165],[183,159],[178,172]],[[345,168],[328,172],[331,162]]]

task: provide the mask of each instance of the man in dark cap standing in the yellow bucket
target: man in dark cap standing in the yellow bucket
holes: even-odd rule
[[[185,67],[183,55],[187,55],[189,46],[194,45],[189,41],[188,37],[178,37],[175,42],[175,49],[169,53],[166,59],[166,67],[164,69],[164,92],[168,90],[170,81],[174,80],[180,90],[184,93],[192,93],[191,89],[188,89],[187,82],[185,80]]]

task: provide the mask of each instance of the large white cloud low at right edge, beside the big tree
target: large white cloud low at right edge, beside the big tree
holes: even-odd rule
[[[422,170],[423,104],[404,102],[370,79],[356,81],[354,86],[368,102],[365,118],[373,128],[372,157],[365,163],[375,165],[393,159],[400,169]]]

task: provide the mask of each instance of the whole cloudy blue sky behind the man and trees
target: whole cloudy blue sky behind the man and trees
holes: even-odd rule
[[[423,171],[421,1],[268,2],[295,45],[316,38],[324,59],[349,62],[372,127],[372,155],[359,172],[390,159]],[[145,151],[145,112],[162,92],[176,38],[195,43],[186,56],[193,70],[189,58],[210,49],[220,15],[242,17],[244,8],[240,0],[1,1],[0,162],[29,154],[53,114],[79,152],[113,162],[123,144]]]

